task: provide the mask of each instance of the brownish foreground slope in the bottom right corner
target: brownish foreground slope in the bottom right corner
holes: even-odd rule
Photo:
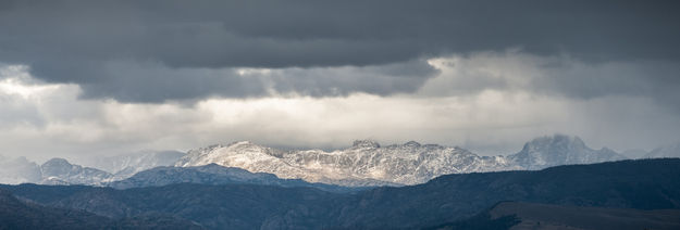
[[[426,229],[675,230],[680,229],[680,209],[641,210],[631,208],[502,202],[470,219]]]

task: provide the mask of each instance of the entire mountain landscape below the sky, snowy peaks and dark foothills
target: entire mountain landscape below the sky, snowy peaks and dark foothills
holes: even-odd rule
[[[555,135],[505,156],[362,140],[331,152],[242,141],[87,166],[0,157],[1,182],[22,183],[0,184],[0,229],[677,229],[677,150],[626,161]]]

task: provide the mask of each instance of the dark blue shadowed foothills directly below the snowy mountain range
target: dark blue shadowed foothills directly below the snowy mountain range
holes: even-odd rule
[[[680,208],[679,177],[680,159],[660,158],[542,170],[454,174],[423,184],[382,187],[357,193],[301,187],[197,183],[126,190],[20,184],[0,186],[0,190],[24,203],[48,208],[87,212],[107,219],[161,215],[186,219],[206,229],[420,229],[456,226],[460,221],[483,223],[489,220],[483,219],[483,214],[490,209],[510,217],[496,222],[502,226],[545,218],[553,219],[549,223],[583,226],[590,225],[589,218],[599,213],[628,215],[629,220],[671,221],[664,225],[672,227],[679,222],[677,216],[672,216],[677,212],[659,209]],[[497,209],[497,204],[506,201],[522,205]],[[559,217],[562,210],[571,215],[581,215],[572,210],[582,210],[581,216],[591,217],[580,222],[568,216]],[[551,212],[556,215],[541,216]],[[651,219],[650,214],[671,216]]]

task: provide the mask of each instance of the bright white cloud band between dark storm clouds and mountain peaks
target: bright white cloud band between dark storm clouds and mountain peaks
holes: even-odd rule
[[[581,136],[595,148],[620,150],[677,141],[680,118],[676,111],[652,98],[581,99],[536,90],[536,86],[547,86],[542,82],[546,74],[613,68],[610,64],[579,67],[568,59],[556,60],[565,59],[545,61],[515,51],[434,59],[429,63],[440,74],[415,94],[212,98],[191,105],[81,100],[77,85],[39,82],[26,67],[3,66],[0,154],[45,159],[144,149],[188,150],[236,140],[343,148],[363,138],[384,144],[416,140],[505,154],[531,138],[554,132]],[[546,67],[552,63],[561,64],[557,68],[562,71]],[[261,69],[244,72],[252,73],[262,74]]]

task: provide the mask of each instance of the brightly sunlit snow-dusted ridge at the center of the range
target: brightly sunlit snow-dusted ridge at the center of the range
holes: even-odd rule
[[[189,151],[175,166],[219,164],[280,178],[342,186],[415,184],[445,174],[518,169],[494,157],[415,141],[381,146],[358,140],[331,153],[321,150],[282,151],[250,142]]]

